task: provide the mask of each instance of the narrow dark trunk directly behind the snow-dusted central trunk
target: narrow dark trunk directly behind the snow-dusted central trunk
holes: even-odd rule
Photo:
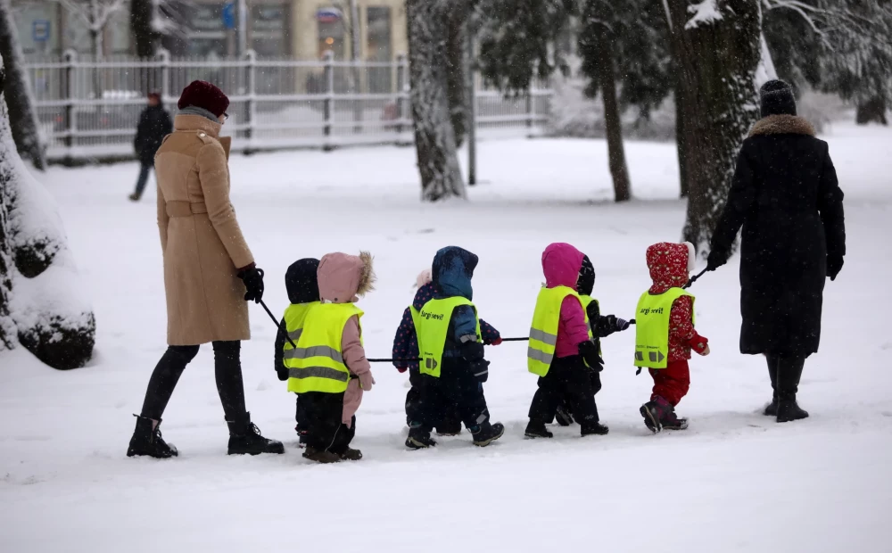
[[[470,58],[467,50],[467,33],[471,16],[468,0],[452,0],[449,4],[449,36],[446,44],[446,80],[449,97],[450,120],[455,131],[455,143],[460,146],[467,134],[467,71]]]

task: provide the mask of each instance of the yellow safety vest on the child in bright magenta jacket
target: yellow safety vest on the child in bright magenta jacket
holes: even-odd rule
[[[558,344],[560,306],[566,296],[573,296],[582,304],[579,294],[568,286],[555,286],[554,288],[543,286],[539,291],[536,310],[533,312],[533,324],[530,326],[530,345],[526,350],[526,367],[533,375],[545,376],[549,374],[551,360],[555,356],[555,346]],[[589,315],[585,309],[582,310],[582,314],[585,316],[585,328],[588,330],[591,340]]]

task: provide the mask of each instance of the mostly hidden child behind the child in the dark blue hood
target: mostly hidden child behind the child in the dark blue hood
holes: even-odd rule
[[[415,299],[412,301],[412,307],[420,311],[425,303],[434,299],[434,283],[430,269],[422,271],[418,275],[417,292]],[[501,336],[499,331],[493,328],[489,323],[480,319],[480,334],[485,345],[499,345]],[[412,387],[406,394],[406,424],[411,426],[413,420],[421,419],[421,373],[418,371],[417,361],[407,361],[406,359],[417,359],[418,357],[418,338],[415,333],[415,322],[412,320],[411,308],[407,307],[402,313],[402,320],[396,335],[393,337],[393,366],[401,373],[409,370],[409,384]],[[433,384],[432,384],[433,385]],[[483,384],[479,384],[481,390]],[[483,394],[481,393],[481,396]],[[483,408],[485,409],[485,404]],[[451,409],[444,412],[440,422],[434,425],[437,434],[441,436],[454,436],[461,433],[461,419],[458,412]]]

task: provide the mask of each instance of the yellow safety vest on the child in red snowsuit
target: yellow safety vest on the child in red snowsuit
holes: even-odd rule
[[[669,314],[673,301],[694,296],[681,288],[670,288],[657,295],[641,294],[635,310],[635,367],[665,368],[669,360]],[[693,322],[691,311],[691,322]]]

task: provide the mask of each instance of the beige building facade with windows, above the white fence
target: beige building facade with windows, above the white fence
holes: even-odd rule
[[[405,0],[175,2],[170,0],[168,19],[178,31],[164,40],[174,56],[227,57],[251,48],[262,58],[313,60],[331,50],[336,60],[351,60],[354,36],[359,37],[359,59],[364,61],[391,61],[409,49]],[[354,2],[356,32],[351,22]],[[128,4],[110,14],[98,36],[88,31],[88,0],[83,4],[85,11],[77,12],[54,0],[12,0],[25,55],[58,56],[68,49],[84,55],[98,50],[103,57],[133,54]]]

